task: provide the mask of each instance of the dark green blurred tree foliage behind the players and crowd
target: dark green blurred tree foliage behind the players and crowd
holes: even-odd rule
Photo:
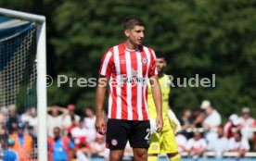
[[[29,4],[29,5],[27,5]],[[172,89],[176,112],[209,99],[227,118],[250,106],[256,114],[256,2],[253,0],[6,1],[0,5],[47,18],[49,105],[95,105],[95,88],[57,86],[58,75],[97,77],[100,57],[124,40],[122,20],[138,16],[147,24],[145,44],[167,54],[174,78],[216,76],[215,88]]]

